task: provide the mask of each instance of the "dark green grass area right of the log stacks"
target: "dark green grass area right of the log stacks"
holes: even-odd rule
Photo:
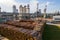
[[[60,28],[58,26],[46,25],[43,36],[43,40],[60,40]]]

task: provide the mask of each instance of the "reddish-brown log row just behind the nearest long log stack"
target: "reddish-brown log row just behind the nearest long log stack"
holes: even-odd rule
[[[34,27],[37,25],[34,21],[8,21],[5,24],[16,26],[16,27],[22,27],[25,29],[34,29]]]

